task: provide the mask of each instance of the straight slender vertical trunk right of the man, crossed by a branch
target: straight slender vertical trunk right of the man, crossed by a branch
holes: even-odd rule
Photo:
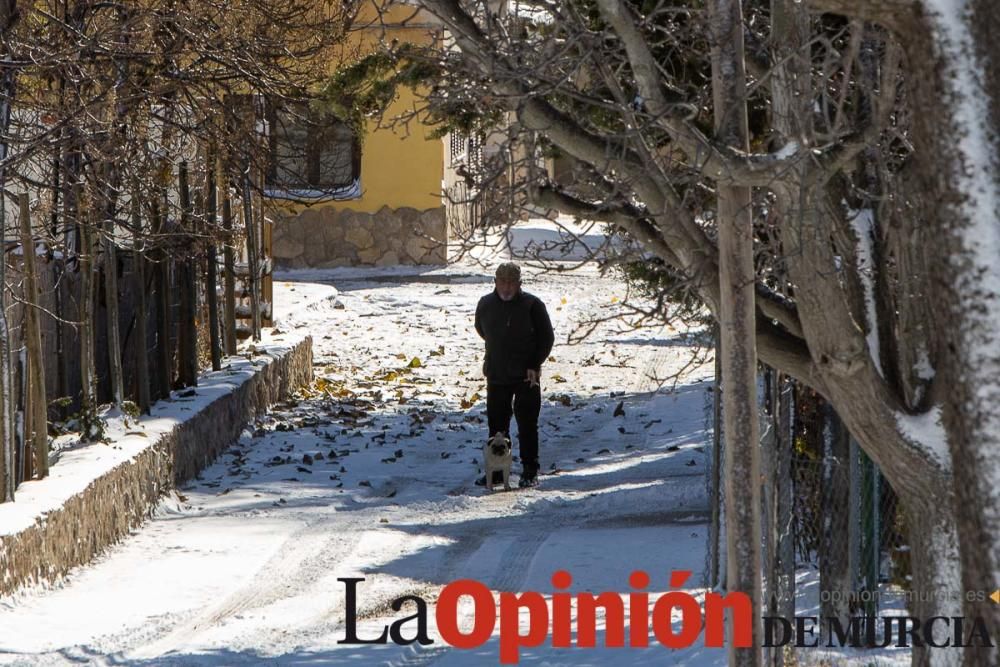
[[[749,151],[743,8],[740,0],[712,0],[712,89],[719,139]],[[730,644],[730,665],[761,664],[761,500],[757,426],[753,219],[750,188],[720,185],[719,284],[722,414],[726,447],[727,588],[750,596],[752,648]]]

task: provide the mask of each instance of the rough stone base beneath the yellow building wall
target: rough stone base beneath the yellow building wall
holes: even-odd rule
[[[444,264],[447,239],[443,206],[375,213],[316,206],[275,220],[272,253],[285,269]]]

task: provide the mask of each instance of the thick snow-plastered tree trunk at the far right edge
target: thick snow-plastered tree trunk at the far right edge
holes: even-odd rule
[[[948,387],[943,417],[962,583],[985,592],[966,599],[964,609],[984,619],[998,642],[1000,605],[988,596],[1000,589],[1000,6],[967,0],[948,15],[928,12],[927,21],[937,48],[924,57],[936,62],[923,63],[934,76],[918,82],[917,95],[923,108],[936,110],[921,138],[939,207],[930,233],[938,248],[932,302],[942,318],[940,379]],[[943,548],[939,540],[934,546]],[[967,665],[998,663],[997,648],[966,651]]]

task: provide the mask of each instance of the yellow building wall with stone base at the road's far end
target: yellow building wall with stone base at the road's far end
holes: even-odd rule
[[[385,0],[368,0],[369,3]],[[362,8],[349,39],[332,49],[337,63],[371,53],[382,41],[425,43],[441,33],[411,6],[395,6],[381,17]],[[364,16],[367,16],[367,24]],[[406,27],[402,27],[405,25]],[[280,268],[441,265],[448,259],[448,219],[441,196],[444,143],[433,128],[413,117],[416,95],[407,89],[387,110],[382,125],[397,116],[410,122],[378,127],[371,121],[361,144],[361,196],[311,205],[272,199],[280,213],[273,227],[272,258]]]

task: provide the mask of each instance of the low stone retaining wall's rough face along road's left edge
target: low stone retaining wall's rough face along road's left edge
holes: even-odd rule
[[[33,521],[19,518],[26,524],[23,528],[9,530],[8,525],[8,530],[0,530],[0,595],[26,584],[56,581],[125,537],[146,520],[165,492],[211,463],[255,415],[312,381],[312,338],[271,356],[270,363],[241,384],[92,479],[59,507],[40,512]],[[57,469],[67,465],[72,463],[60,460],[50,478],[22,487],[59,484]],[[21,504],[0,504],[0,519],[16,515]]]

